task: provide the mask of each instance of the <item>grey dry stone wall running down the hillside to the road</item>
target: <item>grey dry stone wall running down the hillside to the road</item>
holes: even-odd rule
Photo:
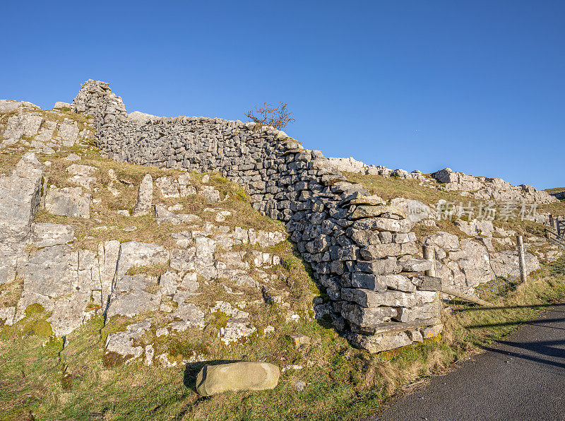
[[[420,257],[415,223],[347,182],[321,152],[254,123],[127,118],[121,98],[98,81],[83,84],[73,110],[95,117],[97,146],[113,160],[219,171],[242,184],[254,208],[285,222],[327,292],[316,312],[353,345],[379,352],[441,331],[439,279],[424,276],[431,263]]]

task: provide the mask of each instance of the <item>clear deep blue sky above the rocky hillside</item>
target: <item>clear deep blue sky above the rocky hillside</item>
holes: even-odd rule
[[[326,156],[565,186],[565,2],[6,1],[0,97],[88,78],[129,112],[288,102]]]

